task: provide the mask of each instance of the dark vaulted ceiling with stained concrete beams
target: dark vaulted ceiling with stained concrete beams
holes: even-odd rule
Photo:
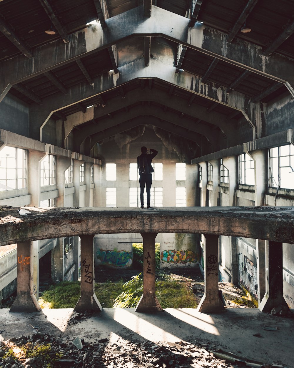
[[[0,93],[29,104],[33,138],[63,121],[76,151],[148,121],[215,151],[260,137],[262,104],[290,93],[293,14],[289,0],[0,0]]]

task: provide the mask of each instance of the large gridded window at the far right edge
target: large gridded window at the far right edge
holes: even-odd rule
[[[279,183],[280,182],[280,183]],[[294,146],[288,144],[269,150],[269,186],[294,189]]]

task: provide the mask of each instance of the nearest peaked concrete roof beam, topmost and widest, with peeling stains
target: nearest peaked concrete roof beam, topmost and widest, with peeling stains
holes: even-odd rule
[[[144,6],[139,6],[105,22],[109,32],[103,32],[100,24],[92,25],[70,35],[70,45],[55,40],[45,46],[36,47],[33,58],[29,60],[16,56],[3,61],[0,93],[8,84],[25,81],[132,36],[161,36],[273,80],[282,83],[287,81],[294,86],[294,63],[291,59],[279,54],[267,58],[262,55],[260,46],[242,40],[238,43],[227,43],[225,33],[204,25],[199,24],[191,29],[189,19],[162,8],[152,6],[152,17],[148,18],[144,17]]]

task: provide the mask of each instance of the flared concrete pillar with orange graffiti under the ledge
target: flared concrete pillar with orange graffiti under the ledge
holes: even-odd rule
[[[17,243],[17,297],[10,312],[36,312],[41,309],[33,294],[32,243]]]

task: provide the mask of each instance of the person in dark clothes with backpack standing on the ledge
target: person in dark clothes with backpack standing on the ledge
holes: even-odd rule
[[[148,151],[150,154],[148,155]],[[151,153],[152,152],[152,153]],[[141,155],[137,157],[137,164],[139,169],[140,175],[140,201],[141,201],[141,208],[144,208],[144,190],[146,185],[146,192],[147,192],[147,208],[150,207],[150,189],[152,184],[152,173],[153,167],[151,166],[152,159],[157,155],[156,149],[147,149],[145,146],[141,147]]]

